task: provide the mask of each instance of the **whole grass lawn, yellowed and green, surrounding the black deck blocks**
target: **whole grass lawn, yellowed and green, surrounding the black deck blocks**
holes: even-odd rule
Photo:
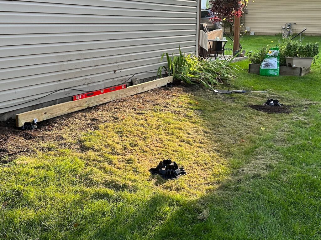
[[[268,93],[174,87],[68,116],[0,165],[0,239],[321,239],[320,74],[245,69],[229,88]],[[268,98],[292,112],[247,107]],[[150,176],[168,157],[188,174]]]

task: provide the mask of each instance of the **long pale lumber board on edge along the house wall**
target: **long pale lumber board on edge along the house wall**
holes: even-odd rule
[[[154,88],[166,86],[168,83],[173,82],[173,77],[164,77],[150,82],[127,87],[115,92],[108,92],[91,98],[85,98],[77,101],[69,101],[46,108],[40,108],[25,113],[16,115],[17,127],[22,127],[26,122],[32,122],[37,118],[38,122],[48,120],[57,116],[62,116],[68,113],[76,112],[85,108],[90,108],[99,104],[107,103],[120,98],[132,96],[141,92],[146,92]]]

